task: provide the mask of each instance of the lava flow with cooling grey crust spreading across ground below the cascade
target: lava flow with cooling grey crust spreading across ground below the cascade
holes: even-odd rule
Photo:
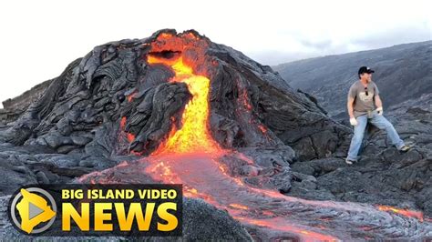
[[[417,227],[414,221],[401,219],[373,206],[304,200],[284,196],[278,191],[250,187],[241,179],[225,173],[218,162],[220,154],[213,156],[202,152],[150,156],[143,159],[148,164],[145,174],[162,183],[183,184],[185,197],[204,199],[215,207],[227,210],[231,217],[244,225],[263,227],[267,236],[273,238],[296,236],[302,241],[334,241],[339,240],[339,236],[349,238],[352,231],[357,231],[353,232],[355,234],[359,230],[365,230],[366,234],[371,231],[372,236],[375,233],[386,234],[386,227],[398,221],[398,227],[388,230]],[[238,155],[228,151],[224,154]],[[409,226],[410,223],[413,226]],[[314,226],[317,224],[319,227]]]

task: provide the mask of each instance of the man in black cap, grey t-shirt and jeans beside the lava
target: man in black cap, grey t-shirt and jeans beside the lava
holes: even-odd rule
[[[356,81],[348,92],[348,114],[349,122],[354,126],[354,136],[351,139],[348,156],[345,162],[352,165],[357,161],[357,154],[362,145],[365,127],[367,123],[386,129],[387,137],[391,143],[401,152],[409,150],[404,141],[400,139],[395,127],[383,116],[383,104],[379,97],[378,87],[372,81],[374,70],[362,66],[358,70],[359,80]]]

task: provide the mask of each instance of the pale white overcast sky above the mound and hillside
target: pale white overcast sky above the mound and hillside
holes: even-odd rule
[[[193,28],[266,65],[426,41],[431,2],[1,1],[0,101],[58,76],[95,45],[160,28]]]

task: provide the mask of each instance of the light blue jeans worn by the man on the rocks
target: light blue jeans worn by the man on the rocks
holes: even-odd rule
[[[399,135],[397,135],[395,127],[388,122],[386,117],[382,115],[378,115],[376,111],[373,111],[372,117],[367,118],[367,115],[357,116],[355,118],[357,120],[357,125],[354,126],[354,136],[351,139],[351,145],[349,146],[348,156],[346,157],[349,160],[357,160],[357,154],[362,146],[363,136],[365,135],[365,127],[367,122],[370,122],[372,125],[376,126],[379,129],[386,129],[387,137],[390,139],[391,143],[396,146],[397,149],[405,146],[404,141],[400,139]]]

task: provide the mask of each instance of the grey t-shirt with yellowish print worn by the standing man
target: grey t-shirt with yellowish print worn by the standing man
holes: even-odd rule
[[[367,90],[367,95],[366,95]],[[355,98],[354,100],[354,116],[364,116],[368,111],[375,110],[374,96],[379,94],[378,86],[371,81],[367,84],[367,89],[360,81],[356,81],[348,92],[348,97]]]

